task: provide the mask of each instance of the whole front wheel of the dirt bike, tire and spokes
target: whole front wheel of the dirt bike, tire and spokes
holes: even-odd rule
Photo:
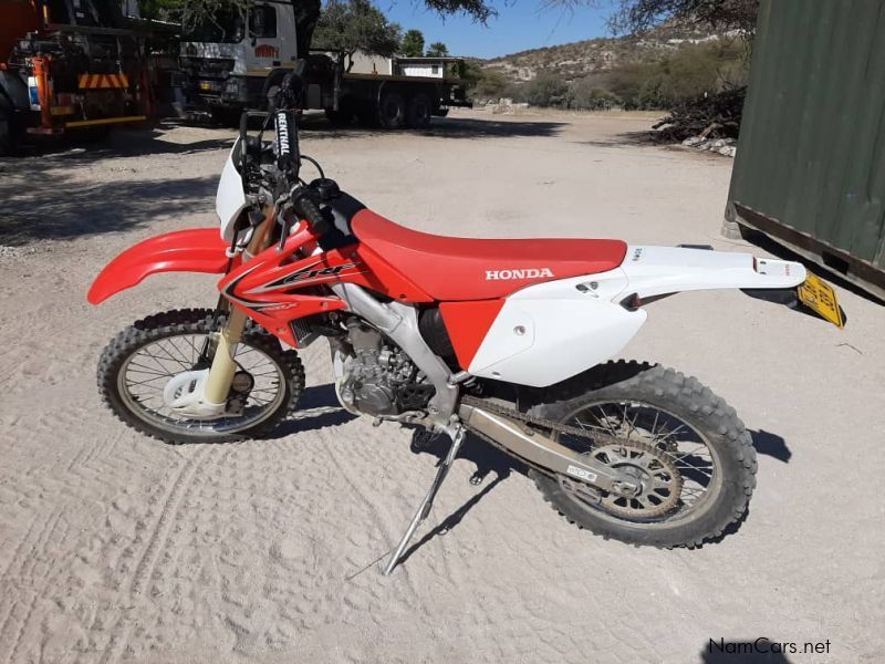
[[[298,353],[283,351],[273,335],[251,321],[233,357],[235,382],[244,385],[233,396],[240,400],[238,407],[198,419],[167,405],[164,391],[175,376],[208,367],[204,350],[223,322],[221,317],[214,323],[208,309],[185,309],[126,328],[98,362],[102,398],[124,423],[167,443],[227,443],[269,434],[294,409],[304,388],[304,367]]]

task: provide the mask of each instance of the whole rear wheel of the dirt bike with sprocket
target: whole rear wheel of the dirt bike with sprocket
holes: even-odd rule
[[[671,548],[700,546],[743,516],[756,486],[752,440],[735,409],[696,378],[611,362],[548,388],[541,401],[531,415],[603,435],[598,445],[555,435],[562,445],[642,486],[633,498],[592,495],[568,477],[532,470],[544,498],[570,522],[605,538]]]

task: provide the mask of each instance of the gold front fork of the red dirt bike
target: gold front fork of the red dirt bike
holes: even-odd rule
[[[252,257],[269,246],[270,229],[275,218],[275,210],[268,209],[262,210],[262,212],[264,214],[264,220],[256,227],[252,239],[242,253],[243,261],[251,260]],[[233,374],[237,373],[237,362],[233,356],[237,354],[237,345],[242,339],[248,320],[249,317],[240,309],[230,307],[227,322],[221,328],[218,338],[212,366],[209,369],[209,375],[206,378],[204,398],[209,404],[216,406],[227,404]]]

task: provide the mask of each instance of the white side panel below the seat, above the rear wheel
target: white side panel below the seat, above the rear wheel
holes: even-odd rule
[[[586,286],[579,290],[579,284]],[[514,293],[504,302],[468,371],[542,387],[605,362],[624,349],[647,315],[612,302],[625,286],[617,269],[539,283]]]

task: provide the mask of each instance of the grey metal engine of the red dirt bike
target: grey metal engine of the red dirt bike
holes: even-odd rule
[[[345,408],[395,416],[427,406],[436,390],[402,349],[357,319],[347,322],[347,342],[337,349],[336,362],[336,387]]]

